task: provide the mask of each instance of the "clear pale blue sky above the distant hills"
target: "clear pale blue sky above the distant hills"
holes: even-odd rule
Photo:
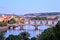
[[[0,0],[0,14],[60,12],[60,0]]]

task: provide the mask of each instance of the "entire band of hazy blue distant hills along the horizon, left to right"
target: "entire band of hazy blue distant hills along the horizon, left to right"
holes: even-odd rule
[[[0,14],[1,16],[2,14]],[[10,14],[4,14],[9,16]],[[25,14],[25,15],[15,15],[14,16],[53,16],[53,15],[60,15],[60,12],[47,12],[47,13],[29,13],[29,14]]]

